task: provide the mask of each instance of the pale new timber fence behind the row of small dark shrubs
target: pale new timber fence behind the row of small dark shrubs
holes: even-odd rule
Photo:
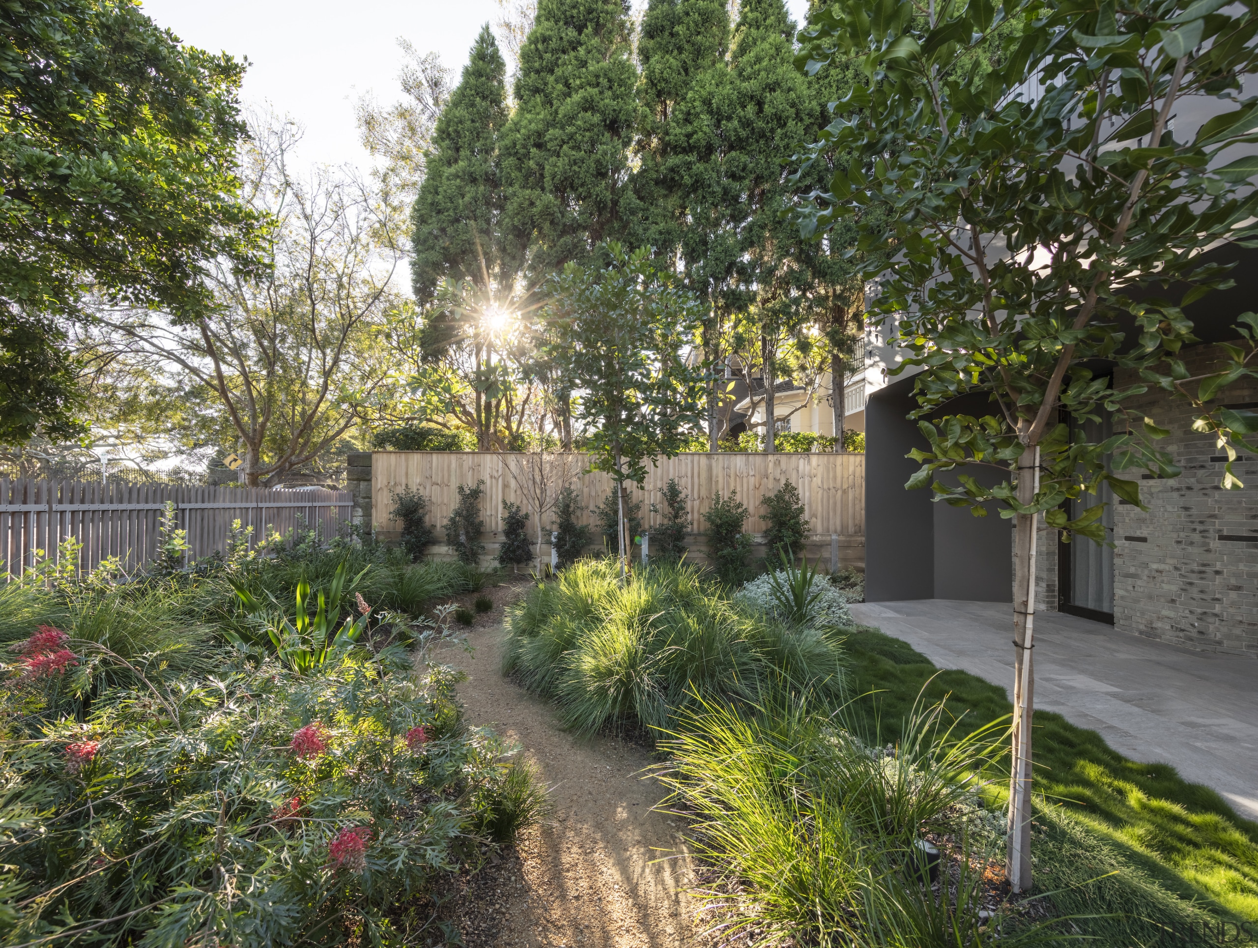
[[[484,482],[482,513],[486,531],[482,542],[486,556],[497,553],[502,537],[502,502],[517,503],[526,512],[535,510],[535,483],[538,478],[536,455],[498,454],[491,451],[374,451],[348,458],[350,490],[355,497],[355,518],[371,522],[381,539],[400,536],[401,524],[390,518],[394,494],[405,487],[418,489],[428,499],[428,519],[437,528],[439,542],[431,547],[437,557],[452,556],[442,526],[458,504],[458,487]],[[552,482],[551,492],[571,487],[582,508],[581,522],[594,526],[590,509],[611,493],[613,480],[603,473],[584,473],[589,458],[584,454],[547,455],[545,477]],[[706,562],[704,522],[702,514],[712,507],[716,494],[722,498],[737,493],[751,515],[745,529],[761,543],[766,513],[762,498],[776,492],[788,480],[799,488],[804,515],[810,522],[810,538],[805,554],[832,570],[864,565],[864,455],[860,454],[681,454],[660,458],[659,465],[648,464],[645,493],[630,488],[633,500],[642,502],[643,529],[649,534],[659,522],[650,504],[660,503],[659,489],[671,479],[677,480],[689,495],[691,533],[687,536],[688,558]],[[369,488],[370,483],[370,488]],[[530,532],[537,526],[530,519]],[[550,556],[551,515],[543,517],[542,557]],[[591,552],[601,548],[596,531]],[[648,544],[649,548],[649,544]],[[764,552],[761,548],[760,552]]]

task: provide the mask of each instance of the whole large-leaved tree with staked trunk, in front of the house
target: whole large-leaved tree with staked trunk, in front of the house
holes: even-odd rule
[[[1140,504],[1140,482],[1115,471],[1177,473],[1155,445],[1166,431],[1128,400],[1188,378],[1177,355],[1194,341],[1184,307],[1228,284],[1227,268],[1201,251],[1258,234],[1258,157],[1228,152],[1258,128],[1258,101],[1242,93],[1255,31],[1258,14],[1225,0],[946,1],[928,13],[877,0],[832,5],[803,34],[803,70],[855,57],[864,72],[810,153],[853,160],[800,209],[799,224],[815,236],[881,210],[864,219],[862,246],[898,249],[867,273],[882,280],[873,312],[898,314],[905,366],[921,368],[915,416],[927,450],[912,453],[922,466],[906,487],[931,487],[976,515],[994,504],[1015,522],[1015,891],[1032,883],[1037,523],[1043,515],[1064,538],[1105,542],[1102,504],[1072,521],[1067,499],[1108,484]],[[985,74],[972,68],[979,58]],[[1043,85],[1038,97],[1030,80]],[[1214,117],[1172,130],[1194,97],[1213,99]],[[1253,314],[1240,318],[1258,328]],[[1254,412],[1211,401],[1250,371],[1242,350],[1193,392],[1198,424],[1229,450],[1258,431]],[[991,407],[950,412],[966,394]],[[1063,412],[1121,424],[1096,441]],[[974,465],[1003,477],[991,487],[964,471],[942,477]]]

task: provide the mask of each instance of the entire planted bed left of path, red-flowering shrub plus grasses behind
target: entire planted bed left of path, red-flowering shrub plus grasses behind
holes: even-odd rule
[[[0,587],[0,943],[457,938],[434,886],[543,803],[405,648],[484,577],[289,539]]]

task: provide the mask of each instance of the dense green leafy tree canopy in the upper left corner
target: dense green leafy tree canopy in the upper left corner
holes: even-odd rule
[[[257,270],[235,200],[243,64],[182,47],[126,0],[0,9],[0,438],[73,430],[50,317],[84,288],[205,312],[205,263]]]

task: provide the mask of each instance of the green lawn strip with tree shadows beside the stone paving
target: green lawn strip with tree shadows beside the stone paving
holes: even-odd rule
[[[957,733],[1011,710],[1004,688],[966,671],[940,671],[899,639],[869,630],[845,645],[852,694],[859,695],[848,707],[850,722],[873,739],[894,738],[928,680],[927,698],[946,698]],[[1059,910],[1128,913],[1086,925],[1123,945],[1146,942],[1156,924],[1206,915],[1258,922],[1258,824],[1215,791],[1169,764],[1130,761],[1094,730],[1047,712],[1035,713],[1034,756],[1045,803],[1037,888],[1059,889],[1050,896]],[[1111,871],[1117,874],[1088,883]],[[1131,913],[1150,919],[1145,938],[1136,937],[1142,923]],[[1250,928],[1258,934],[1258,925]]]

